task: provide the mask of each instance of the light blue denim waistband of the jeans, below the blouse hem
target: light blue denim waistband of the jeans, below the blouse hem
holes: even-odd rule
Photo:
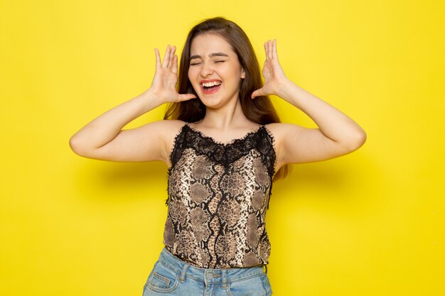
[[[263,266],[257,265],[248,268],[227,268],[227,269],[210,269],[210,268],[198,268],[190,265],[184,261],[181,261],[176,256],[173,256],[170,252],[163,248],[161,255],[159,256],[159,262],[165,265],[167,268],[173,270],[179,275],[179,280],[184,282],[185,278],[193,278],[199,280],[205,284],[225,284],[233,283],[238,280],[245,280],[264,273]]]

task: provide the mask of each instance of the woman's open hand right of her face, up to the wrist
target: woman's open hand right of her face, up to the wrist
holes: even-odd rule
[[[268,40],[264,43],[264,50],[266,51],[266,61],[264,62],[264,67],[262,75],[264,77],[264,85],[262,88],[252,92],[252,99],[259,96],[269,96],[277,95],[280,96],[280,92],[284,87],[284,84],[288,82],[286,75],[282,66],[279,65],[278,55],[277,55],[277,40]]]

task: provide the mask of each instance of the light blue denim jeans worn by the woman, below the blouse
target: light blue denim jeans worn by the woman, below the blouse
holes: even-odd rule
[[[161,295],[270,296],[272,288],[267,272],[261,265],[250,268],[196,268],[163,248],[144,285],[143,296]]]

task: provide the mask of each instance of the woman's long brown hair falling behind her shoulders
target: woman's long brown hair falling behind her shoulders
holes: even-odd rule
[[[217,34],[224,38],[232,46],[237,54],[242,68],[245,70],[245,78],[240,83],[240,103],[242,111],[247,119],[257,124],[272,124],[280,122],[269,97],[261,96],[250,99],[254,90],[262,87],[261,72],[257,55],[246,33],[236,23],[225,18],[208,18],[194,26],[188,33],[184,45],[181,63],[178,72],[178,93],[195,94],[193,86],[188,80],[188,67],[190,65],[190,49],[193,39],[200,34]],[[205,105],[200,99],[191,99],[184,102],[173,103],[168,106],[164,119],[179,119],[186,122],[200,121],[205,116]],[[274,180],[285,177],[289,172],[289,165],[284,165],[274,176]]]

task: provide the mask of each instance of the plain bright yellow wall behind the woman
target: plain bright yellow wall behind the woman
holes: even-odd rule
[[[439,0],[1,0],[0,295],[141,295],[166,166],[80,158],[68,139],[144,92],[154,48],[181,48],[212,16],[239,23],[261,63],[277,38],[286,75],[368,133],[274,184],[274,295],[445,295],[444,12]]]

